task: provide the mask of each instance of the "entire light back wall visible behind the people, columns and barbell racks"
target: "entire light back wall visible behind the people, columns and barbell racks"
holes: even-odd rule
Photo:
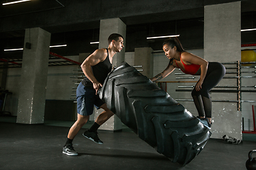
[[[199,57],[203,57],[203,49],[197,50],[188,50],[188,52],[193,53],[194,55],[198,55]],[[78,56],[68,57],[72,60],[78,60]],[[125,53],[125,62],[130,65],[134,65],[134,52],[126,52]],[[164,56],[164,52],[154,53],[154,76],[162,72],[169,60]],[[70,79],[73,76],[73,69],[78,69],[78,66],[58,66],[58,67],[49,67],[48,68],[48,82],[47,82],[47,91],[46,91],[46,99],[49,100],[70,100],[70,95],[74,86],[74,82]],[[254,68],[250,69],[242,69],[243,71],[255,71]],[[170,74],[168,77],[164,78],[162,81],[178,81],[175,79],[175,72],[181,72],[178,69],[174,70],[174,73]],[[10,111],[12,115],[16,115],[17,106],[18,106],[18,83],[21,77],[21,68],[14,68],[8,70],[7,84],[6,87],[13,94],[8,96],[8,101],[6,102],[6,111]],[[251,74],[242,74],[242,76],[251,75],[254,76],[254,73]],[[196,81],[198,77],[193,79],[187,79],[188,81]],[[256,79],[242,79],[242,86],[255,86]],[[171,95],[172,98],[191,98],[191,92],[178,92],[178,86],[186,85],[192,86],[195,83],[169,83],[167,84],[167,92]],[[248,88],[246,88],[248,89]],[[182,96],[181,96],[182,94]],[[219,94],[219,93],[218,93]],[[223,96],[223,94],[221,94]],[[225,94],[224,94],[225,95]],[[213,100],[218,100],[214,96]],[[235,100],[236,98],[234,98]],[[242,93],[242,100],[244,101],[255,101],[255,94],[253,93]],[[193,115],[197,116],[196,107],[194,106],[192,101],[180,101],[180,103],[188,109]],[[232,103],[226,103],[227,105]],[[242,117],[245,118],[245,130],[253,130],[252,124],[252,104],[256,105],[256,103],[242,103]],[[213,108],[214,109],[214,108]],[[215,115],[213,115],[214,117]],[[250,119],[250,127],[248,123],[248,119]]]

